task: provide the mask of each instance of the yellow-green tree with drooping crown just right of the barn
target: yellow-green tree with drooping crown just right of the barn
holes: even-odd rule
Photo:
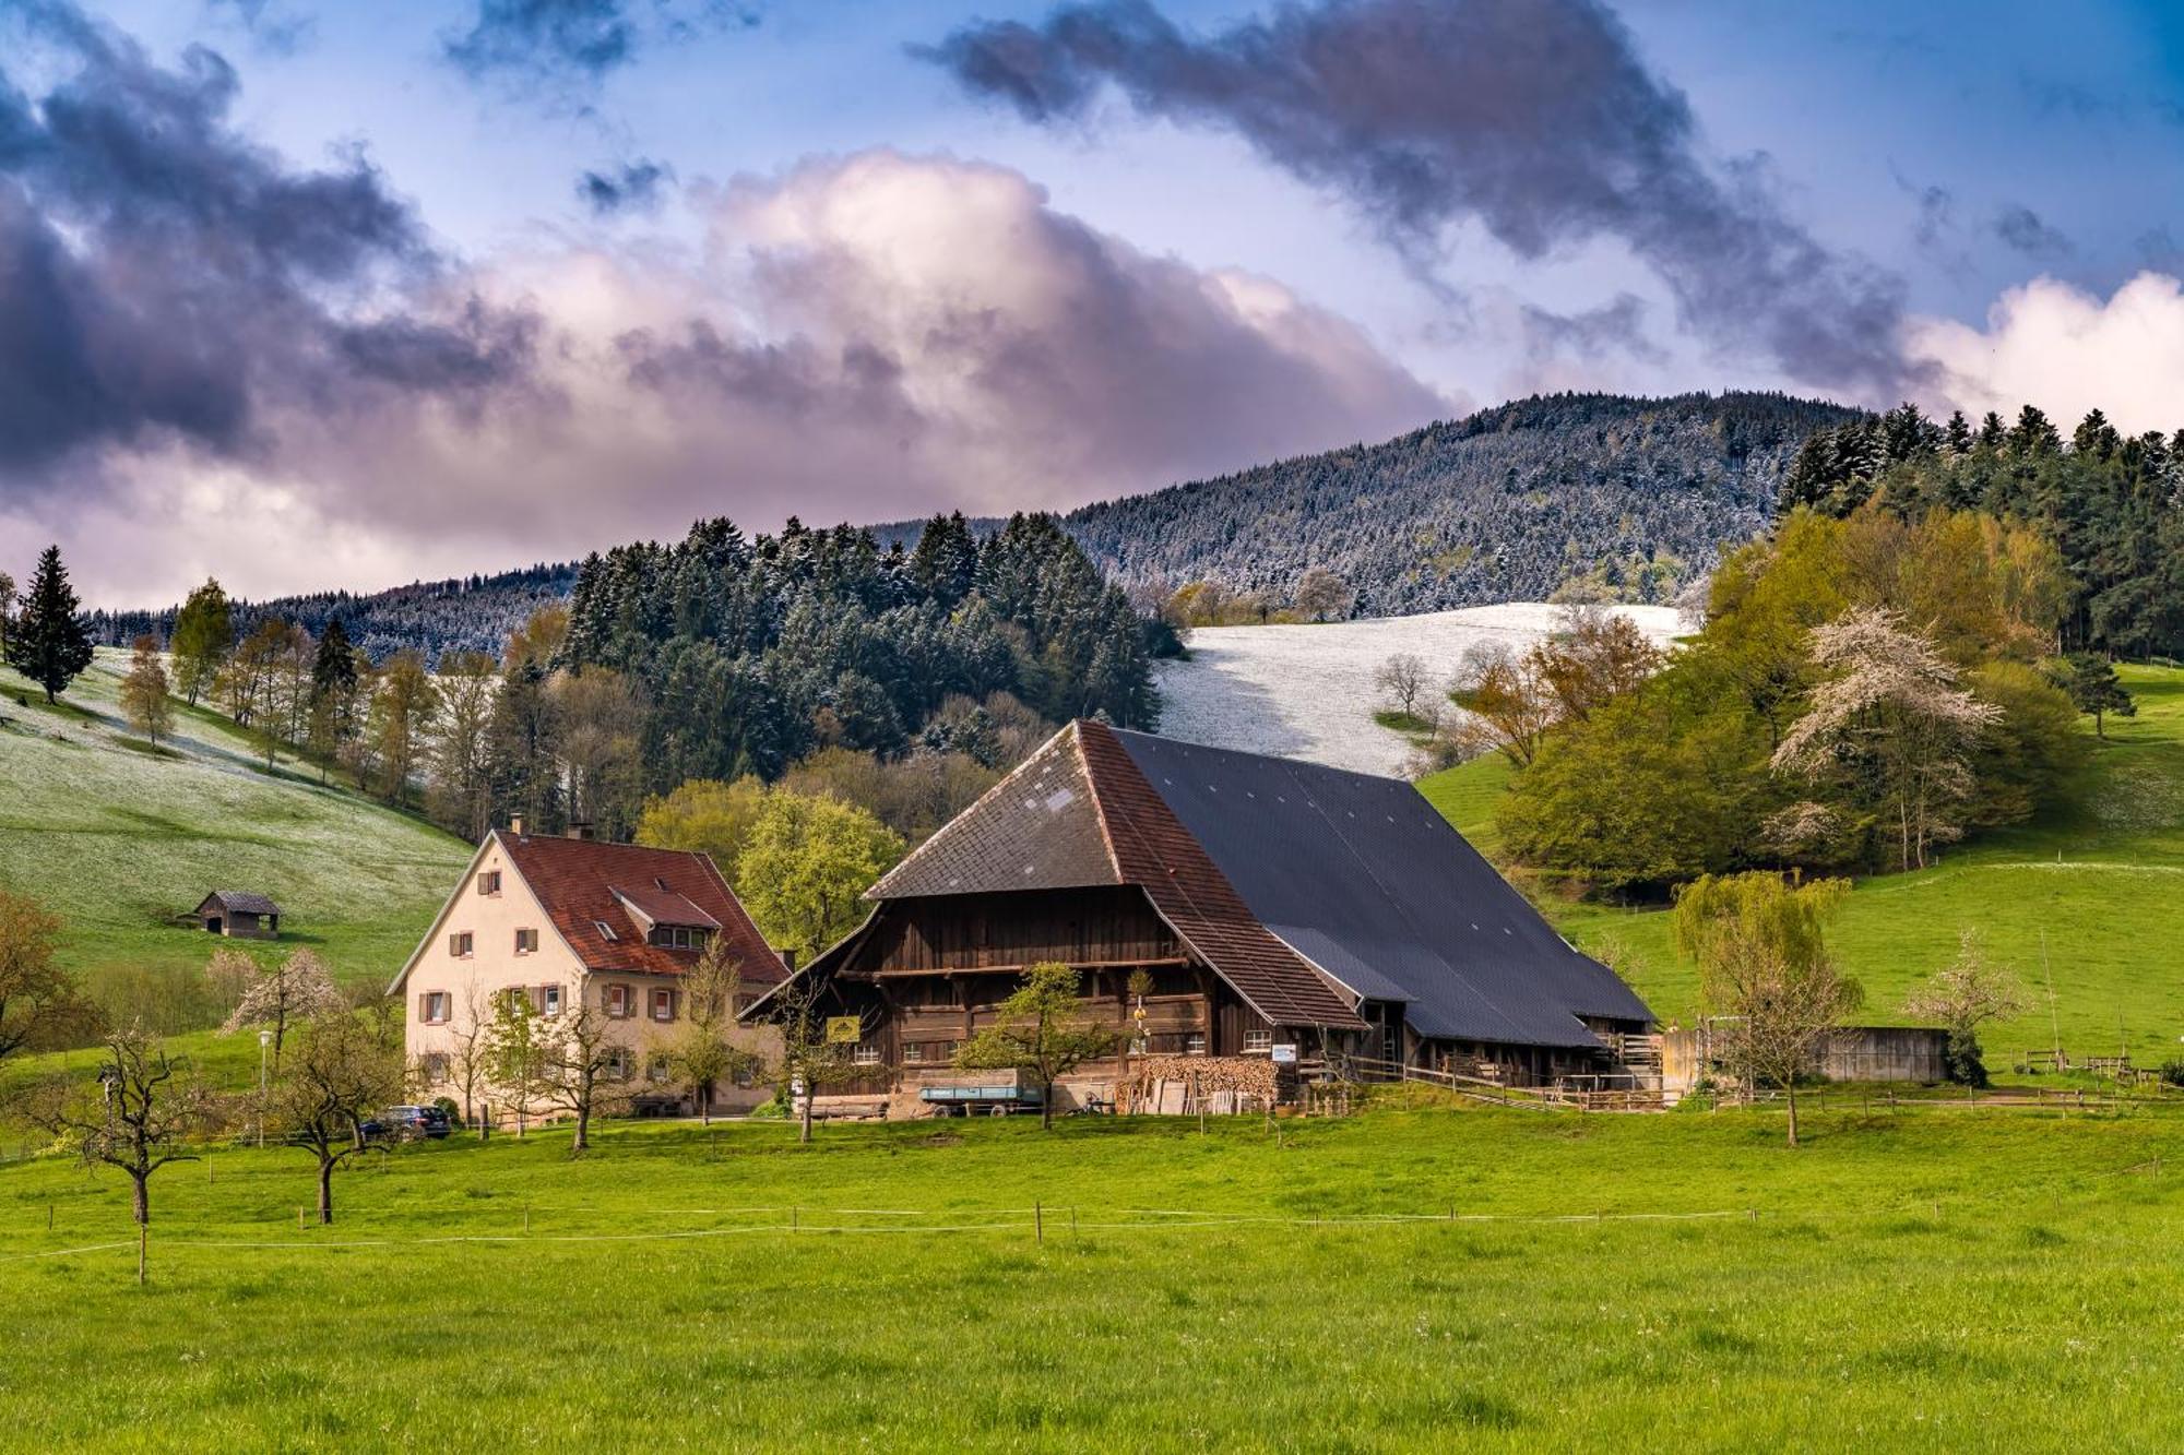
[[[1675,942],[1699,961],[1714,1055],[1743,1086],[1780,1086],[1797,1145],[1797,1077],[1865,990],[1828,957],[1824,920],[1839,878],[1789,887],[1776,874],[1701,874],[1675,896]]]

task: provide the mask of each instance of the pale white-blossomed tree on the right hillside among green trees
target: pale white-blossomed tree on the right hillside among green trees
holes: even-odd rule
[[[2001,708],[1959,688],[1894,612],[1815,627],[1813,660],[1832,675],[1776,747],[1776,771],[1878,802],[1896,821],[1898,865],[1926,867],[1933,843],[1963,832],[1955,811],[1974,786],[1970,754]]]

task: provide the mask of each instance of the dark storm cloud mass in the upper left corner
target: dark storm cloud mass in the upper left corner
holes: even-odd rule
[[[164,70],[52,2],[0,37],[59,76],[33,98],[0,63],[0,487],[50,487],[103,446],[249,454],[282,404],[520,367],[513,321],[349,317],[430,286],[424,229],[360,155],[295,170],[238,135],[216,52]]]

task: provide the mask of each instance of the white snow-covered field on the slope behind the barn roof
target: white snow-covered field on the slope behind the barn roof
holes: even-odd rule
[[[1616,607],[1655,642],[1677,634],[1673,607]],[[1555,629],[1562,607],[1511,601],[1426,616],[1319,627],[1199,627],[1188,662],[1160,664],[1160,732],[1186,743],[1308,758],[1361,773],[1400,773],[1411,745],[1376,723],[1374,671],[1398,651],[1446,682],[1474,642],[1522,651]]]

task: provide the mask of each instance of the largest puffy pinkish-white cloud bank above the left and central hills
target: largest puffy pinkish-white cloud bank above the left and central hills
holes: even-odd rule
[[[260,181],[286,177],[258,162]],[[369,173],[343,177],[384,197]],[[874,151],[692,203],[701,245],[539,234],[456,262],[400,208],[349,199],[371,225],[336,236],[369,247],[262,225],[301,260],[288,271],[323,280],[275,288],[264,326],[258,295],[214,273],[223,332],[190,343],[153,293],[179,363],[118,308],[85,369],[66,308],[44,334],[0,330],[0,369],[81,374],[100,404],[68,441],[0,461],[0,559],[57,535],[100,603],[207,572],[258,594],[382,585],[723,511],[769,527],[1059,507],[1455,411],[1289,288],[1142,253],[1007,168]],[[192,280],[194,251],[238,251],[236,232],[256,229],[197,221],[162,267]],[[0,236],[57,238],[35,208]],[[103,267],[116,242],[98,236]],[[149,382],[111,400],[131,360]],[[151,389],[168,380],[190,387]],[[0,391],[0,417],[46,417],[22,400]],[[96,487],[50,487],[61,443]]]

